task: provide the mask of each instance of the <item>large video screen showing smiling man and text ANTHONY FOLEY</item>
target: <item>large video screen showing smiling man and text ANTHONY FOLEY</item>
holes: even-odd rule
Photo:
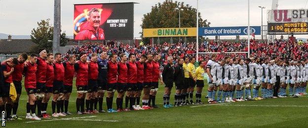
[[[133,39],[134,3],[74,5],[75,40]]]

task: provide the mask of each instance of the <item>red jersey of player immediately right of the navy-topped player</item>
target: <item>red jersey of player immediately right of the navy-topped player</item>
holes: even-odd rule
[[[108,75],[107,80],[108,84],[116,83],[116,75],[117,75],[117,63],[108,62]]]

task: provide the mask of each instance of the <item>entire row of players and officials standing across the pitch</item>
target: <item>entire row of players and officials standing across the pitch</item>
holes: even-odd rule
[[[209,85],[208,103],[276,98],[273,87],[277,82],[279,82],[280,97],[286,96],[288,84],[290,85],[290,96],[305,95],[308,81],[308,61],[284,62],[278,59],[269,61],[269,59],[259,58],[241,60],[225,57],[225,59],[215,62],[216,54],[213,54],[207,64],[199,62],[199,66],[196,68],[194,66],[195,58],[179,58],[177,64],[173,64],[173,58],[168,57],[168,64],[164,65],[160,74],[158,63],[160,56],[158,54],[142,55],[138,61],[136,61],[134,54],[130,54],[128,57],[126,54],[120,54],[120,61],[117,62],[116,54],[108,57],[106,52],[99,55],[93,53],[90,58],[87,60],[87,55],[81,53],[78,61],[72,55],[69,57],[69,61],[62,62],[60,53],[53,55],[42,49],[39,55],[31,54],[30,61],[26,61],[28,55],[23,53],[18,58],[10,58],[2,62],[1,73],[3,75],[1,76],[3,78],[0,82],[3,85],[0,90],[0,109],[6,111],[6,119],[21,119],[16,113],[22,92],[23,75],[28,95],[26,119],[32,120],[50,117],[47,114],[47,106],[51,96],[53,117],[72,114],[68,111],[68,106],[75,76],[78,115],[105,112],[103,110],[105,93],[107,93],[108,112],[158,108],[155,105],[155,96],[159,80],[161,84],[165,85],[163,107],[173,107],[169,101],[173,83],[176,88],[175,106],[203,104],[201,94],[206,73]],[[17,92],[15,101],[9,98],[11,84],[14,84]],[[195,85],[196,102],[193,102]],[[253,85],[252,97],[250,94],[251,85]],[[259,96],[260,87],[262,87],[262,96]],[[245,94],[243,93],[244,89]],[[235,90],[236,96],[233,98]],[[116,110],[113,109],[115,91],[117,91]],[[123,107],[124,96],[125,107]],[[86,108],[84,108],[84,104]],[[38,110],[38,116],[36,110]]]

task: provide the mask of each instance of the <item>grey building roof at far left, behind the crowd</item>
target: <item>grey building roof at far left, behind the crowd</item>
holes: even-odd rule
[[[35,45],[31,39],[0,39],[0,54],[30,53]]]

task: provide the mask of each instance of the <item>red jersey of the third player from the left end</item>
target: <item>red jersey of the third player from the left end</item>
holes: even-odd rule
[[[37,64],[27,62],[28,66],[25,67],[25,88],[37,88]],[[46,74],[44,74],[46,76]]]

